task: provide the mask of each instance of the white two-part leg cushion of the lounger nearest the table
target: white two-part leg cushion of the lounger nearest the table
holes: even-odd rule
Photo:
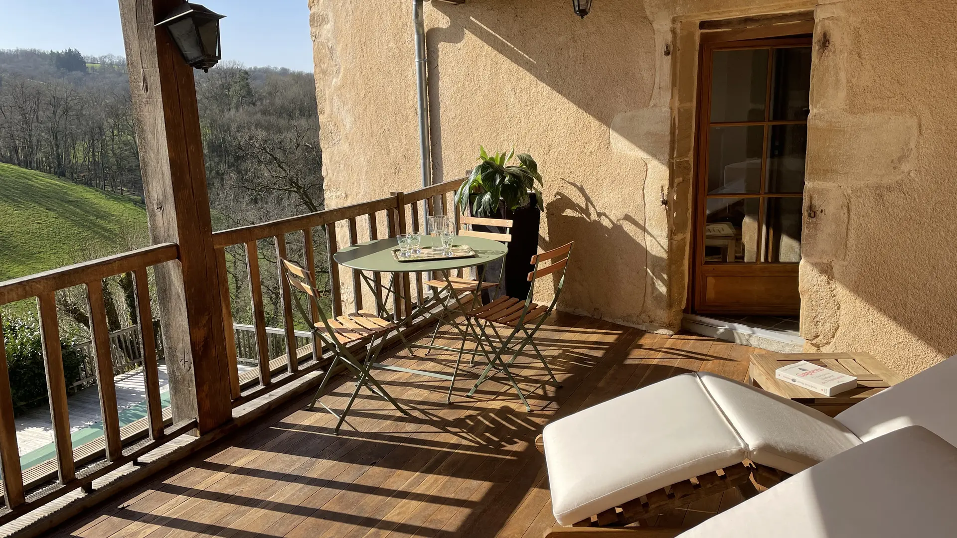
[[[860,441],[834,418],[712,373],[684,373],[545,426],[561,525],[753,460],[800,472]]]

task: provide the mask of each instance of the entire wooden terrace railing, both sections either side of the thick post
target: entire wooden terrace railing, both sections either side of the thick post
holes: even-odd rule
[[[457,212],[450,193],[454,192],[462,181],[463,179],[448,181],[412,192],[392,192],[389,197],[377,200],[212,234],[213,254],[222,298],[223,324],[226,329],[224,332],[234,410],[260,395],[275,391],[327,364],[323,360],[323,349],[317,347],[311,334],[309,337],[304,337],[306,333],[297,330],[288,283],[284,280],[276,282],[280,291],[280,301],[275,318],[281,318],[280,337],[285,354],[274,358],[275,353],[270,352],[269,333],[275,332],[276,329],[266,326],[266,310],[262,295],[262,267],[260,267],[263,251],[260,250],[260,243],[264,241],[272,243],[276,262],[278,258],[290,256],[293,250],[300,253],[303,258],[300,261],[304,261],[304,266],[308,269],[313,282],[317,279],[316,258],[317,250],[319,250],[326,267],[324,284],[329,292],[331,313],[336,316],[343,314],[346,305],[360,310],[367,302],[371,303],[376,298],[371,292],[363,291],[362,279],[357,272],[345,270],[351,273],[343,274],[343,270],[340,270],[332,259],[340,242],[345,241],[352,245],[360,241],[423,230],[425,212],[456,214],[457,226]],[[297,243],[289,243],[288,235],[293,235],[291,240]],[[295,248],[290,248],[291,246]],[[227,249],[230,247],[240,249],[241,256],[244,258],[248,279],[240,281],[234,278],[234,287],[245,288],[249,293],[252,310],[249,313],[253,322],[252,326],[238,326],[243,332],[248,330],[247,327],[251,328],[255,335],[253,339],[255,352],[246,353],[244,350],[244,354],[255,355],[255,357],[245,358],[255,358],[257,368],[243,374],[239,373],[237,366],[237,342],[228,279]],[[233,258],[233,255],[230,257]],[[171,439],[197,428],[198,421],[195,417],[170,424],[170,410],[162,408],[157,370],[156,335],[147,281],[148,268],[179,258],[177,244],[163,243],[109,258],[95,259],[21,279],[0,282],[0,305],[29,299],[34,299],[38,304],[43,361],[49,387],[56,448],[54,460],[21,471],[16,427],[13,420],[10,376],[6,349],[2,345],[2,325],[0,325],[0,463],[3,470],[4,503],[4,507],[0,508],[0,525],[45,504],[50,504],[77,488],[82,487],[87,492],[93,491],[94,480],[127,462],[145,456]],[[235,258],[234,261],[236,261]],[[142,358],[145,372],[146,417],[121,428],[113,378],[115,366],[111,353],[113,345],[107,330],[103,302],[103,280],[126,273],[132,273],[135,282],[135,308],[137,308],[139,320],[139,325],[135,329],[139,334],[136,338],[127,338],[127,340],[135,342],[139,349],[133,354]],[[281,273],[277,271],[276,274]],[[375,275],[371,278],[379,281],[381,277]],[[426,295],[421,276],[414,278],[414,293],[412,293],[412,281],[408,275],[393,276],[390,281],[393,285],[391,289],[393,293],[391,293],[392,301],[389,306],[391,315],[394,317],[411,312],[413,303]],[[89,346],[96,357],[95,370],[104,432],[100,439],[78,447],[76,450],[71,439],[70,417],[67,410],[68,388],[63,370],[60,327],[56,313],[56,292],[74,286],[85,288],[88,299],[92,332]],[[394,293],[396,291],[400,292],[404,299],[396,299]],[[376,293],[379,294],[378,303],[381,303],[381,290],[376,290]],[[314,323],[317,316],[318,311],[314,306],[312,320],[301,321],[301,324]],[[125,337],[129,336],[126,332],[123,334]],[[269,405],[263,403],[256,409],[267,410]],[[215,435],[221,435],[221,433],[208,433],[203,437],[214,438],[211,436]],[[147,466],[152,464],[154,463],[145,463]]]

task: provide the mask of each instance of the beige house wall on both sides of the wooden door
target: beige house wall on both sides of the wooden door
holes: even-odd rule
[[[411,4],[310,0],[330,207],[420,185]],[[582,20],[565,2],[433,2],[435,179],[460,177],[479,145],[531,153],[542,247],[576,241],[561,307],[675,330],[698,23],[815,8],[802,330],[809,350],[921,370],[957,351],[949,3],[602,0]]]

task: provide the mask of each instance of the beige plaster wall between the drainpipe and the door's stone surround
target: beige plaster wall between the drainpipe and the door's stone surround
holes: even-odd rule
[[[623,0],[584,20],[540,0],[432,8],[436,175],[471,168],[479,144],[531,153],[545,175],[541,247],[576,242],[562,307],[657,328],[669,116],[650,107],[656,45],[645,12]],[[551,299],[550,286],[538,292]]]

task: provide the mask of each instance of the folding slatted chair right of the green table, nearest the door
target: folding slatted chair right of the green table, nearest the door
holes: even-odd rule
[[[542,355],[542,351],[535,344],[534,336],[539,327],[545,323],[545,320],[555,308],[555,304],[558,303],[559,296],[562,294],[562,288],[565,286],[565,272],[568,269],[568,258],[571,256],[571,247],[573,245],[574,241],[557,249],[552,249],[532,257],[531,263],[535,267],[534,270],[528,274],[528,281],[532,282],[532,285],[528,289],[528,297],[524,303],[512,297],[501,297],[492,303],[465,312],[467,320],[466,328],[471,330],[472,334],[478,339],[479,347],[488,360],[485,370],[479,375],[479,380],[476,381],[475,386],[472,387],[468,395],[471,396],[475,394],[476,390],[479,389],[479,385],[488,379],[492,369],[498,369],[505,374],[508,381],[512,384],[512,387],[519,393],[519,398],[522,400],[522,403],[525,404],[525,409],[531,411],[531,406],[529,406],[525,400],[522,389],[515,381],[515,375],[517,374],[509,370],[509,367],[515,362],[515,359],[519,357],[523,349],[528,345],[531,345],[532,349],[535,350],[535,354],[538,355],[539,361],[542,362],[542,366],[545,367],[545,371],[548,372],[551,382],[556,387],[562,386],[558,382],[558,379],[555,378],[555,374],[548,368],[548,363],[545,362],[545,356]],[[547,260],[551,260],[551,263],[543,267],[542,263]],[[555,298],[552,299],[551,304],[548,306],[533,303],[532,297],[535,294],[535,281],[553,273],[558,274],[558,286],[555,289]],[[510,327],[511,331],[507,336],[502,338],[497,325]],[[492,329],[492,334],[489,334],[489,328]],[[493,334],[497,342],[492,340]],[[518,342],[518,346],[514,347],[513,351],[512,345],[513,342],[516,341]],[[488,349],[486,349],[486,345]],[[504,361],[502,355],[509,351],[512,352],[512,358],[508,361]],[[459,354],[459,359],[460,358],[461,355]]]

